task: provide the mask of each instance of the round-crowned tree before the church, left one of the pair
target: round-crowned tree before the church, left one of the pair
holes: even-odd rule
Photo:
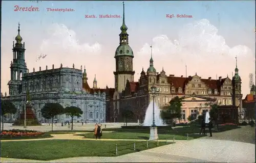
[[[42,117],[45,119],[52,119],[52,131],[53,131],[53,118],[57,115],[64,113],[64,108],[59,103],[46,103],[41,109]]]

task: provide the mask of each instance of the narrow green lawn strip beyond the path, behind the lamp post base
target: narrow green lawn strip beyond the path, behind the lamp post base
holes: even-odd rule
[[[94,133],[83,133],[77,134],[83,135],[85,138],[95,138]],[[179,135],[179,134],[158,134],[160,140],[187,140],[187,135]],[[189,134],[188,140],[203,137],[203,135],[199,134]],[[104,132],[102,133],[102,139],[132,139],[132,140],[148,140],[150,138],[150,133],[143,132]]]

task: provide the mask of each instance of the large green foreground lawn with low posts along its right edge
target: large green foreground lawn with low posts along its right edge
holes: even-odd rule
[[[133,153],[149,148],[157,147],[156,141],[81,141],[81,140],[44,140],[44,141],[19,141],[1,142],[1,157],[53,160],[68,157],[82,156],[116,156],[116,144],[118,155]],[[158,142],[158,146],[166,145],[166,142]],[[168,143],[170,144],[170,143]]]

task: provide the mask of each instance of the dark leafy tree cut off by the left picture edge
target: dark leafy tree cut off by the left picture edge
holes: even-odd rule
[[[17,108],[15,107],[15,105],[9,101],[9,100],[2,100],[1,101],[1,116],[3,118],[2,120],[2,129],[4,129],[4,116],[6,114],[15,114],[17,112]]]

